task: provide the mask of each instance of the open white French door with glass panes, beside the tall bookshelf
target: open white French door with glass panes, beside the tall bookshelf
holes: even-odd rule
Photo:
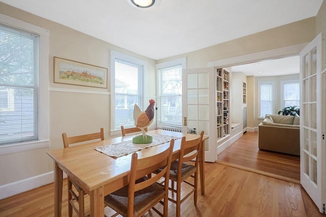
[[[217,158],[214,87],[213,68],[182,70],[182,132],[196,129],[197,134],[204,131],[209,136],[204,147],[206,162],[215,162]]]

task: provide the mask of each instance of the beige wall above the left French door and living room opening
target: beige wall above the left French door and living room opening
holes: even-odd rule
[[[315,28],[316,19],[308,18],[194,52],[160,59],[157,63],[186,56],[188,69],[207,67],[210,61],[310,42],[315,38]]]

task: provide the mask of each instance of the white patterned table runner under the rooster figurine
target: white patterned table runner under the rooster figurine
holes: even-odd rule
[[[109,144],[109,145],[104,145],[104,146],[99,146],[94,148],[95,150],[105,153],[108,156],[119,158],[129,153],[133,153],[148,147],[169,142],[171,141],[171,139],[180,139],[180,137],[168,136],[162,134],[153,134],[152,137],[153,137],[153,142],[147,144],[134,144],[132,143],[132,140],[128,140],[128,141],[123,141],[119,143],[114,143],[114,144]]]

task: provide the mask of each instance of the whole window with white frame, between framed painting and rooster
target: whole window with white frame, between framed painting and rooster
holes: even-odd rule
[[[116,51],[111,52],[112,109],[111,129],[134,127],[133,107],[143,105],[143,74],[146,62]]]

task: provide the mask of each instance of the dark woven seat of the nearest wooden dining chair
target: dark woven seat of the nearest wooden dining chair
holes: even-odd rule
[[[146,180],[147,177],[140,178],[136,183]],[[138,216],[148,207],[151,207],[151,204],[157,203],[162,198],[165,197],[165,190],[161,185],[154,183],[149,187],[142,189],[134,193],[134,216]],[[128,207],[128,185],[122,189],[115,191],[112,194],[106,195],[104,197],[105,205],[111,207],[116,212],[123,216],[127,216],[127,207]]]

